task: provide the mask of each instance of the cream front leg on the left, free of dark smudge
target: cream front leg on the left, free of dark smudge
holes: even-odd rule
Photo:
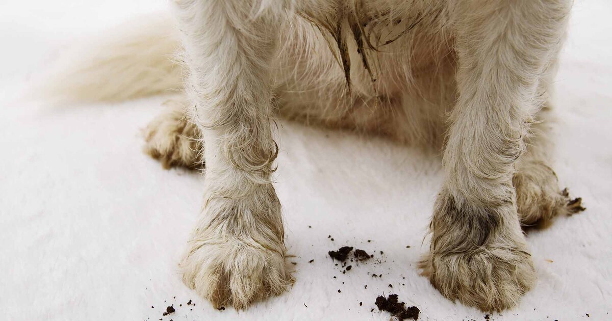
[[[217,308],[246,308],[292,280],[271,182],[278,147],[269,63],[279,17],[260,1],[176,2],[191,114],[206,146],[203,213],[181,262],[183,280]]]

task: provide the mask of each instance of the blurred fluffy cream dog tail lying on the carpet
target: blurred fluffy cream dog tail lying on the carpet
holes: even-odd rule
[[[62,53],[37,95],[56,103],[89,103],[182,89],[179,35],[170,15],[143,17],[105,34]]]

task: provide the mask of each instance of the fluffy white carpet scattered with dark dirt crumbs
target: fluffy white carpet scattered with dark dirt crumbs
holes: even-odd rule
[[[176,264],[203,179],[165,171],[141,152],[139,129],[163,98],[70,108],[16,98],[63,43],[165,2],[61,2],[0,4],[0,319],[389,320],[370,309],[377,295],[397,293],[421,310],[419,320],[483,320],[416,269],[428,248],[439,158],[288,122],[275,186],[295,286],[241,312],[198,298]],[[612,2],[576,2],[557,78],[554,168],[588,210],[529,235],[537,286],[493,320],[612,320]],[[327,256],[342,245],[382,263],[353,264],[343,275]],[[162,316],[171,304],[176,312]]]

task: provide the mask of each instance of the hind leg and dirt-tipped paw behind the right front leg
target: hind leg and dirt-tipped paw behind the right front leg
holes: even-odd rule
[[[550,103],[546,103],[532,125],[534,133],[528,139],[528,149],[517,164],[512,183],[517,190],[518,213],[523,226],[545,227],[555,216],[572,215],[583,211],[580,197],[569,197],[567,188],[561,190],[557,175],[550,164],[548,139],[551,118]]]

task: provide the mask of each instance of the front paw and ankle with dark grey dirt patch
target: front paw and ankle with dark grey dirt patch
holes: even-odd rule
[[[444,297],[496,312],[516,306],[533,286],[531,255],[510,201],[469,205],[442,191],[431,232],[420,268]]]

